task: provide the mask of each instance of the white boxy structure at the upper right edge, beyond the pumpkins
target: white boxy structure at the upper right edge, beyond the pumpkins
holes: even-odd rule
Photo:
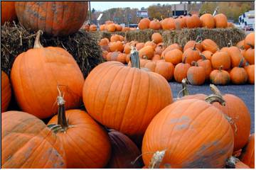
[[[247,11],[239,16],[239,25],[242,28],[253,28],[255,30],[255,11]]]

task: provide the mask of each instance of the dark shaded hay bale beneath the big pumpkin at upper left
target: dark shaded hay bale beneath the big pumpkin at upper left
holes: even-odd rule
[[[26,30],[18,23],[5,23],[1,26],[1,69],[10,74],[15,58],[21,52],[33,48],[35,38],[34,32]],[[63,47],[70,52],[78,62],[84,77],[87,77],[97,64],[103,62],[102,51],[97,41],[84,30],[67,37],[53,38],[42,35],[41,44],[44,47]]]

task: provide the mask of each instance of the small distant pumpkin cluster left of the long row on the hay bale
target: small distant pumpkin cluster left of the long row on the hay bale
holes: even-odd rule
[[[87,31],[97,31],[97,26],[95,24],[89,25],[84,24],[81,28],[82,30]],[[129,28],[129,27],[122,27],[117,23],[114,23],[113,21],[105,21],[105,24],[100,25],[100,31],[108,31],[108,32],[116,32],[116,31],[122,31],[126,32],[128,30],[137,30],[136,28]]]

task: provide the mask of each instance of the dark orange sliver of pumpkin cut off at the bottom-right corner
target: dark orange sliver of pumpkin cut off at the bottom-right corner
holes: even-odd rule
[[[241,161],[251,169],[255,168],[255,134],[253,133],[249,137],[249,141],[244,149],[242,149]]]

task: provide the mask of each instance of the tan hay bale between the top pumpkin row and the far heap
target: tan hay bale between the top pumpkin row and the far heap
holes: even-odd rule
[[[235,45],[245,38],[245,32],[238,28],[186,28],[182,30],[166,30],[162,35],[165,45],[178,43],[182,47],[188,40],[196,40],[198,35],[201,35],[203,40],[207,38],[214,40],[220,48],[227,47],[230,40],[233,42],[233,45]]]

